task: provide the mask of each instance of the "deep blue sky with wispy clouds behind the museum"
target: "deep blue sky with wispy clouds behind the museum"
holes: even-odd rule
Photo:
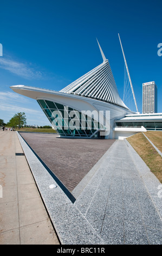
[[[1,1],[0,118],[25,112],[27,124],[49,125],[38,103],[14,93],[24,84],[60,90],[102,63],[96,38],[109,60],[119,94],[124,58],[141,106],[142,83],[155,81],[162,112],[161,0]]]

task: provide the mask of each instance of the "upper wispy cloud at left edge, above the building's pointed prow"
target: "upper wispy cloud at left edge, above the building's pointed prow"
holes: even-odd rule
[[[16,62],[10,57],[0,58],[0,68],[27,79],[40,79],[43,75],[41,71],[36,71],[34,68],[32,68],[31,64]]]

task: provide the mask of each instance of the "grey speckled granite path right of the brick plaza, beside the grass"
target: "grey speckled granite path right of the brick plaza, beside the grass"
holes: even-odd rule
[[[159,185],[131,145],[116,141],[74,204],[106,244],[162,244]]]

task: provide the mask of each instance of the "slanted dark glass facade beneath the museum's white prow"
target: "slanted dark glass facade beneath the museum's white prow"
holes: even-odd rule
[[[44,114],[60,136],[102,138],[105,127],[93,117],[49,100],[37,100]]]

